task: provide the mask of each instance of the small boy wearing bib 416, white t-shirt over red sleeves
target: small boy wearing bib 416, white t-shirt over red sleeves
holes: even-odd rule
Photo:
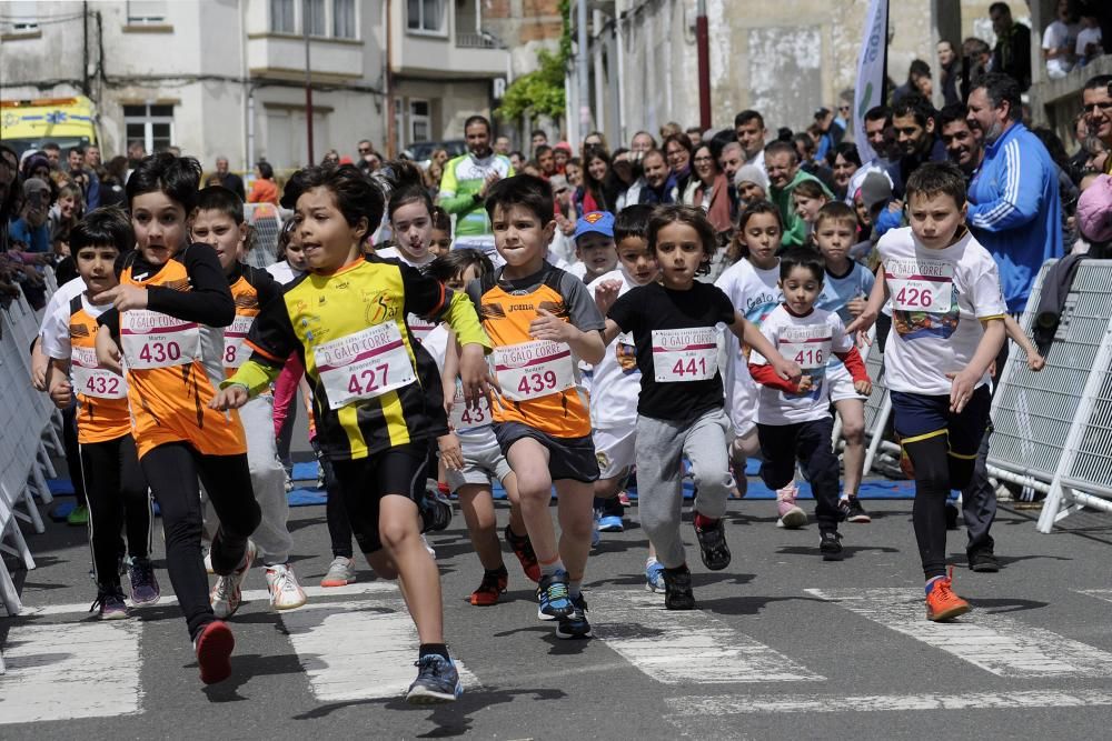
[[[844,206],[844,204],[843,204]],[[802,369],[798,381],[785,380],[754,351],[749,372],[761,384],[757,392],[757,437],[761,440],[761,478],[773,490],[791,482],[795,461],[802,461],[815,494],[818,551],[824,561],[842,560],[837,458],[831,450],[831,356],[838,358],[853,378],[857,393],[868,394],[872,383],[865,364],[834,312],[815,308],[823,290],[826,267],[811,248],[788,250],[780,259],[780,287],[784,301],[761,324],[761,333],[787,360]]]

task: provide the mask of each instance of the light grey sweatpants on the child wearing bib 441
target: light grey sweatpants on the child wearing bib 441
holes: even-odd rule
[[[729,497],[729,418],[713,409],[691,422],[637,417],[637,509],[641,525],[668,569],[686,563],[679,535],[683,457],[692,463],[698,498],[695,511],[717,520]]]

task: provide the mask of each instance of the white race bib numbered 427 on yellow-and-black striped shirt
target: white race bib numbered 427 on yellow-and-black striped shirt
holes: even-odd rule
[[[358,399],[374,399],[417,380],[394,322],[319,344],[312,357],[329,409],[339,409]]]

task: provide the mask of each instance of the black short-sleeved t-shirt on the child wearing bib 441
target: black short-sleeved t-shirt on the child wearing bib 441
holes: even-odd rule
[[[722,408],[722,373],[717,370],[714,378],[707,380],[657,382],[653,330],[714,329],[719,323],[733,324],[734,316],[734,306],[721,289],[697,281],[689,291],[674,291],[658,283],[641,286],[614,302],[609,319],[623,332],[632,332],[637,347],[638,414],[682,422]],[[714,354],[717,356],[717,350]],[[668,358],[669,367],[674,364],[672,356],[661,357]]]

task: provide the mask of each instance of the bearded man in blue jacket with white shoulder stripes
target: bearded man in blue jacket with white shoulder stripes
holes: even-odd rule
[[[1012,313],[1023,311],[1043,262],[1062,257],[1058,173],[1021,117],[1020,86],[1006,74],[986,74],[970,91],[969,122],[984,134],[985,151],[966,219],[996,259]]]

